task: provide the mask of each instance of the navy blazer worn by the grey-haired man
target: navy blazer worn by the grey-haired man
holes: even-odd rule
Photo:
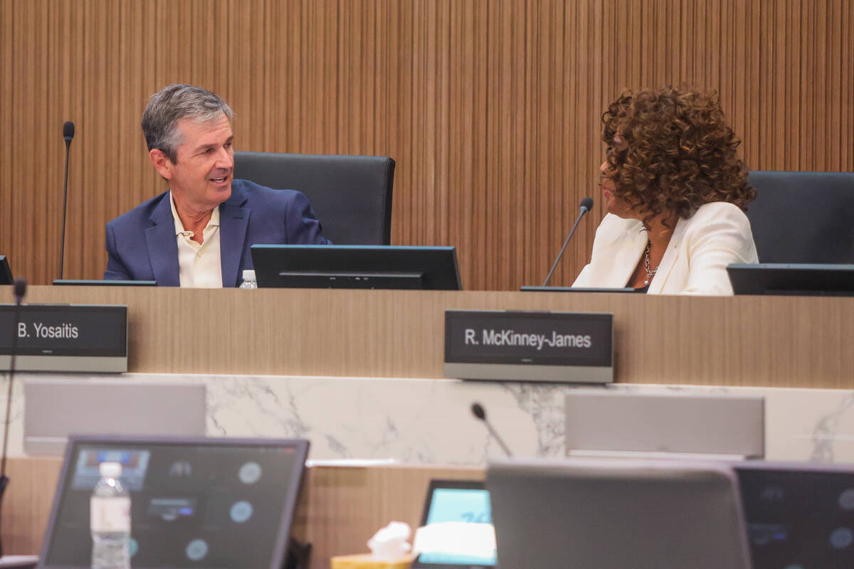
[[[253,268],[249,247],[256,243],[327,245],[329,241],[301,192],[234,180],[231,197],[219,205],[223,287],[237,287],[243,269]],[[107,253],[104,280],[156,281],[161,287],[178,287],[178,241],[169,193],[109,222]]]

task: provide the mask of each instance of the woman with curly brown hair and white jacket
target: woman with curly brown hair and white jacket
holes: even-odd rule
[[[715,93],[626,92],[602,115],[608,214],[573,287],[732,294],[726,267],[757,263],[756,198]]]

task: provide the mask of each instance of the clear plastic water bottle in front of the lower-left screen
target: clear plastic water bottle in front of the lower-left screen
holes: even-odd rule
[[[131,494],[121,484],[121,465],[102,462],[89,502],[92,569],[130,569]]]

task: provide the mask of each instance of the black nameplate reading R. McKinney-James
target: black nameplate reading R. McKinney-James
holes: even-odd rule
[[[445,375],[463,379],[610,382],[613,315],[445,311]]]

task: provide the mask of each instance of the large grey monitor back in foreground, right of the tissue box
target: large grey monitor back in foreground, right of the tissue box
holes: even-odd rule
[[[488,467],[499,567],[749,569],[732,467],[567,458]]]

